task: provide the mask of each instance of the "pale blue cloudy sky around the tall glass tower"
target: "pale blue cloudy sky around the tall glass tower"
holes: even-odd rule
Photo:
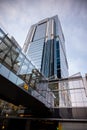
[[[0,0],[0,26],[23,47],[32,24],[58,15],[69,75],[87,73],[87,0]]]

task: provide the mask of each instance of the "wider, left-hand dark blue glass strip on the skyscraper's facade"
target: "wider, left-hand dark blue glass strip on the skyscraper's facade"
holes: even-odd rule
[[[49,40],[44,45],[41,72],[46,77],[54,75],[54,41]]]

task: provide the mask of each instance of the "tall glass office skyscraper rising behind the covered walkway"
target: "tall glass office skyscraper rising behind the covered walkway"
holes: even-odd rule
[[[68,76],[65,40],[57,15],[31,26],[23,51],[47,78]]]

